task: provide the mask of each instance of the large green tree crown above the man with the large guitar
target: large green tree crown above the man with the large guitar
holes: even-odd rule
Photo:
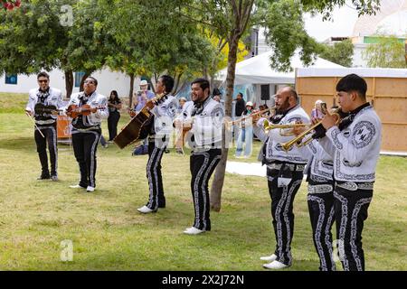
[[[211,43],[195,23],[178,17],[182,1],[99,1],[109,14],[105,27],[117,42],[107,58],[110,67],[152,77],[163,72],[191,78],[213,60]],[[175,7],[175,9],[169,9]]]

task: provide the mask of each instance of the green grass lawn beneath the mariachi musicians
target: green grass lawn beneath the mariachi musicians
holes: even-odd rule
[[[263,270],[259,257],[275,246],[265,178],[227,173],[213,230],[186,236],[194,219],[188,156],[164,155],[167,206],[156,214],[137,213],[148,197],[147,156],[131,156],[130,147],[99,146],[94,193],[68,188],[79,180],[69,145],[59,145],[61,181],[36,181],[40,163],[33,124],[23,113],[26,98],[0,94],[0,270]],[[244,161],[253,162],[259,149],[255,142],[255,155]],[[233,152],[230,160],[242,161]],[[366,270],[407,269],[406,172],[406,158],[380,158],[364,225]],[[306,197],[304,182],[287,270],[318,267]],[[61,259],[63,240],[72,242],[71,262]]]

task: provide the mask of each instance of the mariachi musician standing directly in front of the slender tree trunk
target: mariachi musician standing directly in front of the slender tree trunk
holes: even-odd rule
[[[194,200],[194,224],[187,235],[211,230],[208,182],[222,154],[222,104],[209,96],[209,81],[195,79],[191,83],[193,102],[187,102],[175,120],[189,128],[188,142],[193,150],[190,158],[191,192]]]

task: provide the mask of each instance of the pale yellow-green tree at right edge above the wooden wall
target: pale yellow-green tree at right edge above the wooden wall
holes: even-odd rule
[[[380,68],[407,68],[404,58],[404,43],[400,42],[396,36],[379,35],[379,41],[370,44],[363,52],[362,56],[367,61],[368,67]]]

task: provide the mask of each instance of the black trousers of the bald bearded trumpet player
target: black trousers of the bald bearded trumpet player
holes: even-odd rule
[[[297,165],[295,167],[296,170]],[[279,186],[279,171],[267,169],[271,198],[271,217],[277,243],[274,254],[277,256],[277,261],[287,266],[292,264],[291,240],[294,235],[293,202],[303,178],[302,171],[292,171],[291,173],[289,184]]]

